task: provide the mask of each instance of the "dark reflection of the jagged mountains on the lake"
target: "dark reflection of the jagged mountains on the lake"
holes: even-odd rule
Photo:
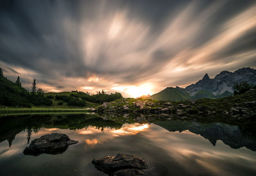
[[[209,140],[212,145],[216,145],[217,140],[223,141],[231,148],[246,147],[250,150],[256,151],[256,138],[255,136],[248,136],[235,125],[227,125],[220,123],[204,124],[199,122],[189,122],[181,120],[172,121],[159,121],[154,122],[168,131],[183,132],[190,131]]]

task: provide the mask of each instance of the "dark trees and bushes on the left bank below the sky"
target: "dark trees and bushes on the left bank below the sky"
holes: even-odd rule
[[[33,80],[30,90],[22,88],[20,76],[13,83],[3,76],[3,70],[0,68],[0,104],[4,106],[22,106],[31,107],[35,106],[51,106],[52,99],[58,100],[58,105],[61,106],[65,102],[68,106],[86,106],[86,101],[103,103],[110,102],[115,99],[122,98],[121,93],[107,94],[103,90],[97,92],[95,95],[90,93],[72,91],[69,96],[67,95],[52,95],[45,96],[42,88],[36,88],[36,79]]]

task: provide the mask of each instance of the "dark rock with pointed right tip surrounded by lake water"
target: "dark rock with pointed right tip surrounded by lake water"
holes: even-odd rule
[[[26,147],[23,153],[25,155],[38,156],[40,154],[62,154],[68,148],[68,145],[78,143],[68,138],[66,134],[52,133],[41,136],[31,141],[29,147]]]

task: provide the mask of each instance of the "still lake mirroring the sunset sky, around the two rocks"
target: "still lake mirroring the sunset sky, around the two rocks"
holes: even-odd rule
[[[79,143],[62,154],[23,154],[52,132]],[[88,114],[0,117],[0,175],[105,175],[92,159],[118,153],[142,157],[147,175],[256,175],[255,133],[237,125]]]

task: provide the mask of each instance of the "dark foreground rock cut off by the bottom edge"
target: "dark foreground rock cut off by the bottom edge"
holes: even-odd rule
[[[129,154],[117,154],[93,159],[92,164],[108,175],[144,175],[148,168],[141,158]]]

